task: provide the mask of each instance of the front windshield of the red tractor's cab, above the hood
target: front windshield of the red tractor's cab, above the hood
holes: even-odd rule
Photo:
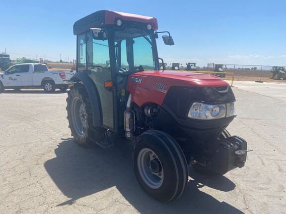
[[[154,70],[151,36],[140,28],[115,31],[117,71],[120,73]]]

